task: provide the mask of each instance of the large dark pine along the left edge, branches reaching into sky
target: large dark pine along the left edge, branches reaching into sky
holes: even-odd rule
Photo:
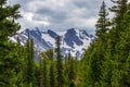
[[[20,29],[15,20],[21,17],[20,5],[6,5],[6,0],[0,0],[0,86],[15,86],[17,73],[17,54],[15,45],[9,41],[9,36]]]

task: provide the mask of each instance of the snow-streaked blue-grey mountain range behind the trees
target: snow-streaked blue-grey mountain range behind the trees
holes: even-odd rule
[[[18,35],[13,36],[11,40],[16,42],[16,38],[20,37],[21,44],[25,45],[28,34],[29,37],[34,39],[35,50],[38,52],[49,49],[54,50],[55,37],[61,36],[62,54],[66,55],[70,51],[72,55],[77,58],[80,58],[84,53],[84,50],[94,38],[92,35],[89,35],[82,29],[70,28],[65,32],[53,32],[49,29],[47,32],[42,32],[38,28],[27,28],[23,32],[20,32]]]

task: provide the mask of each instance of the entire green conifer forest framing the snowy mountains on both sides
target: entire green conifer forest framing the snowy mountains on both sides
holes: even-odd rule
[[[18,35],[16,44],[9,39],[21,28],[20,4],[0,0],[0,87],[130,87],[130,3],[110,1],[101,3],[96,38],[80,60],[63,57],[56,37],[55,50],[39,52],[36,62],[29,34],[25,46]]]

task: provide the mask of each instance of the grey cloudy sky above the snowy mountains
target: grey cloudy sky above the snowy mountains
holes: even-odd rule
[[[72,27],[93,33],[102,0],[10,0],[20,3],[22,28],[64,30]],[[105,0],[107,5],[112,3]]]

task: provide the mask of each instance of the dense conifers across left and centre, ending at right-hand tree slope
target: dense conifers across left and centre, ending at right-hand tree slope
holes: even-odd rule
[[[34,41],[28,34],[25,46],[10,41],[10,37],[21,28],[18,4],[6,5],[0,0],[0,87],[74,87],[76,60],[61,55],[60,40],[56,38],[55,52],[39,52],[35,61]],[[55,54],[54,54],[55,53]],[[69,64],[70,63],[70,64]]]

